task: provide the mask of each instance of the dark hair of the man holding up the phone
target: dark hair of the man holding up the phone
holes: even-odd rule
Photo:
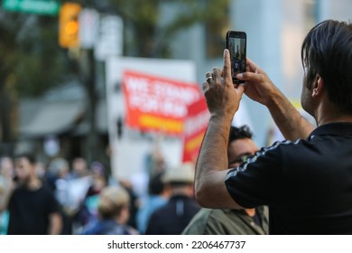
[[[329,100],[352,114],[352,23],[327,20],[307,34],[301,46],[306,87],[318,74]]]

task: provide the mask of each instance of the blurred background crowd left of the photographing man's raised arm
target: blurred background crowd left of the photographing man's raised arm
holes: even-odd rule
[[[32,154],[3,156],[0,234],[181,234],[199,211],[193,196],[194,164],[166,168],[161,155],[151,155],[146,168],[141,194],[98,161],[59,157],[42,164]],[[171,199],[177,220],[159,217],[167,211],[154,214]],[[166,230],[165,219],[174,224]]]

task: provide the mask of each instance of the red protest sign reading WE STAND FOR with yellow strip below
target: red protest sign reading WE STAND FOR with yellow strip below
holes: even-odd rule
[[[132,70],[123,76],[126,125],[181,136],[187,106],[200,97],[198,85]]]

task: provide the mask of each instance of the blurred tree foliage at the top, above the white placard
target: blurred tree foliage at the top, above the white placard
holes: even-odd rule
[[[171,41],[196,23],[217,23],[228,8],[228,0],[111,0],[116,13],[125,21],[125,52],[153,58],[171,56]],[[123,6],[123,7],[122,7]],[[173,9],[171,17],[162,16],[162,7]],[[161,18],[163,23],[161,23]]]

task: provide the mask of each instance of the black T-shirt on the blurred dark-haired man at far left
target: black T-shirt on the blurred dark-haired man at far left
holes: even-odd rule
[[[44,187],[35,191],[19,187],[14,190],[8,210],[9,235],[46,235],[49,216],[59,212],[59,205],[51,191]]]

